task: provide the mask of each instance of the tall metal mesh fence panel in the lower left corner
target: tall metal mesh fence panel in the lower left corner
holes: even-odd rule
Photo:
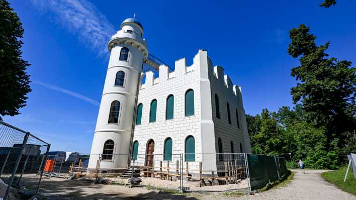
[[[42,178],[50,145],[0,121],[0,197],[18,199],[16,188],[35,196]]]

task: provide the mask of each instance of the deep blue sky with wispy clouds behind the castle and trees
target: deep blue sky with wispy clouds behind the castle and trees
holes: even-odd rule
[[[356,2],[338,1],[11,1],[25,36],[31,88],[21,114],[4,121],[52,144],[51,150],[90,152],[104,86],[109,37],[133,16],[144,27],[149,52],[168,65],[193,63],[198,49],[242,87],[244,108],[293,106],[287,53],[289,30],[311,27],[328,53],[356,62]]]

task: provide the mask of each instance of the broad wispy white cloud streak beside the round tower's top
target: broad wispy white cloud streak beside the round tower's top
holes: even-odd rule
[[[78,37],[87,48],[105,56],[107,42],[116,31],[106,17],[87,0],[31,0],[42,13],[51,13],[54,22]]]

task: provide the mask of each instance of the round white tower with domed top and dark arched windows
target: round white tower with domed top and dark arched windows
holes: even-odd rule
[[[142,25],[129,18],[108,44],[111,54],[91,150],[91,154],[104,154],[101,169],[127,165],[128,155],[117,154],[130,152],[137,87],[148,56],[142,35]],[[96,168],[98,159],[91,155],[88,168]]]

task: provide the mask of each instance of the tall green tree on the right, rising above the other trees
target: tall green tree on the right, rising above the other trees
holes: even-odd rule
[[[356,70],[350,61],[327,58],[329,42],[317,46],[316,36],[304,24],[293,28],[290,38],[288,53],[300,61],[291,73],[298,81],[291,89],[293,102],[302,103],[309,122],[325,128],[330,144],[341,133],[355,129]]]

